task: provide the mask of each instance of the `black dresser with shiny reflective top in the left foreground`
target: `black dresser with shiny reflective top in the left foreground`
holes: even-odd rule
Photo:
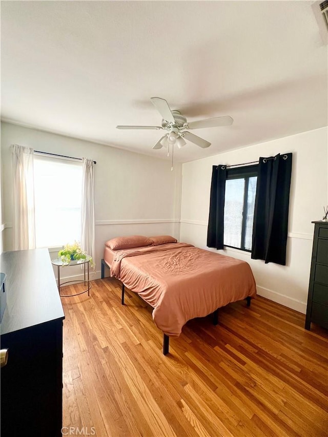
[[[7,307],[1,322],[1,436],[61,436],[63,306],[48,249],[4,252]]]

